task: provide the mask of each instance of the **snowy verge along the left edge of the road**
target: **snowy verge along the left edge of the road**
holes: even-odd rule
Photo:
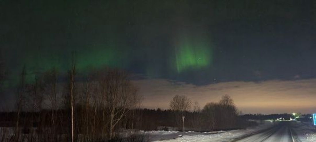
[[[247,129],[214,132],[146,131],[149,141],[155,142],[227,142],[272,127],[277,122],[265,121],[264,124]]]

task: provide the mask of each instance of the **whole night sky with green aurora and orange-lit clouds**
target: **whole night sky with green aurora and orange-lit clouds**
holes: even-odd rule
[[[29,78],[65,72],[75,52],[82,73],[137,76],[144,107],[167,109],[182,94],[203,106],[228,94],[244,112],[316,108],[313,0],[0,0],[0,19],[9,86],[23,65]]]

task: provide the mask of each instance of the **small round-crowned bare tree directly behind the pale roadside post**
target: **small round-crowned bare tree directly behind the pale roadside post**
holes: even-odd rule
[[[170,108],[172,110],[176,111],[180,115],[182,122],[183,122],[183,129],[182,130],[184,132],[184,130],[185,130],[185,128],[184,128],[184,120],[185,120],[184,113],[186,111],[190,110],[191,100],[189,98],[187,98],[186,96],[176,95],[170,101]],[[176,120],[178,120],[178,119],[176,119]]]

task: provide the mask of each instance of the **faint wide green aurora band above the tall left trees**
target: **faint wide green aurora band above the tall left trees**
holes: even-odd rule
[[[87,73],[91,69],[101,69],[104,67],[124,68],[129,60],[125,51],[121,51],[120,45],[116,44],[97,44],[94,47],[85,47],[75,51],[76,69],[80,73]],[[23,66],[26,66],[26,81],[31,83],[36,75],[56,68],[58,74],[65,74],[70,67],[71,53],[66,51],[44,52],[41,50],[26,52],[22,59],[22,64],[11,72],[9,78],[12,85],[18,83]]]

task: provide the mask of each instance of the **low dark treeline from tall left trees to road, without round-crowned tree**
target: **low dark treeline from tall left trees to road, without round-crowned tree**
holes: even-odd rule
[[[174,109],[137,109],[134,116],[134,128],[139,130],[177,130],[183,131],[182,116],[185,116],[185,131],[216,131],[243,129],[258,125],[247,121],[237,114],[236,109],[225,104],[229,96],[225,95],[218,103],[209,103],[200,109],[193,103],[191,110],[179,111]],[[230,98],[228,100],[231,100]],[[127,127],[131,128],[131,127]]]

